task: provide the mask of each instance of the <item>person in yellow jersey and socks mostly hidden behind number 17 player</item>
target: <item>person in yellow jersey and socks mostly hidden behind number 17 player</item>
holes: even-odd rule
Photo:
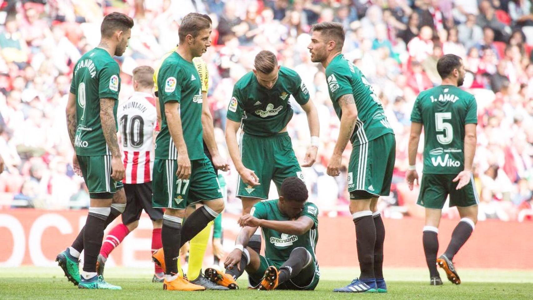
[[[168,55],[172,54],[176,48],[174,48],[171,52],[166,53],[163,58],[161,58],[160,62],[158,63],[158,66],[155,68],[154,73],[154,82],[155,82],[155,95],[156,95],[156,102],[158,102],[158,91],[157,91],[157,75],[159,71],[159,67],[161,62],[163,62]],[[215,173],[220,169],[222,171],[227,171],[229,169],[228,161],[227,159],[224,159],[220,156],[219,150],[217,148],[216,143],[210,141],[214,141],[214,128],[213,128],[213,117],[211,116],[211,112],[209,111],[209,105],[207,102],[207,90],[209,87],[209,72],[207,69],[207,64],[205,61],[199,57],[194,58],[192,62],[195,64],[195,67],[198,71],[198,75],[200,76],[201,81],[201,92],[202,92],[202,116],[201,116],[201,123],[203,127],[203,134],[204,134],[204,152],[205,155],[211,160],[211,164],[214,168]],[[158,109],[157,115],[158,115],[158,123],[160,124],[160,110],[159,110],[159,104],[156,104],[156,107]],[[209,138],[211,137],[211,138]],[[208,143],[206,143],[208,141]],[[218,173],[217,173],[218,174]],[[219,179],[222,176],[219,175]],[[224,185],[224,187],[222,187]],[[221,190],[225,189],[225,183],[224,181],[221,182]],[[223,192],[224,194],[224,192]],[[194,210],[196,209],[196,205],[189,206],[187,209],[187,216],[189,216]],[[214,222],[217,224],[221,223],[221,215],[219,215]],[[211,229],[213,227],[213,222],[209,223],[206,228],[204,228],[200,233],[198,233],[194,238],[190,241],[190,250],[189,250],[189,267],[187,271],[187,277],[190,280],[191,283],[194,283],[195,285],[203,286],[206,289],[216,289],[216,290],[223,290],[227,289],[223,286],[216,285],[215,283],[207,280],[204,278],[204,275],[201,273],[201,266],[202,262],[204,260],[204,255],[207,248],[207,243],[209,240],[209,236],[211,235]],[[222,245],[221,245],[221,232],[220,230],[215,230],[215,233],[213,234],[213,253],[218,256],[222,256]],[[163,270],[165,270],[165,260],[164,260],[164,253],[163,248],[160,248],[154,252],[152,255],[153,260],[156,262],[156,264],[159,264]],[[180,261],[177,261],[178,265],[180,264]],[[183,276],[183,271],[181,267],[178,267],[178,270],[181,272],[181,275]],[[163,277],[161,277],[163,279]],[[161,280],[161,282],[163,282]]]

